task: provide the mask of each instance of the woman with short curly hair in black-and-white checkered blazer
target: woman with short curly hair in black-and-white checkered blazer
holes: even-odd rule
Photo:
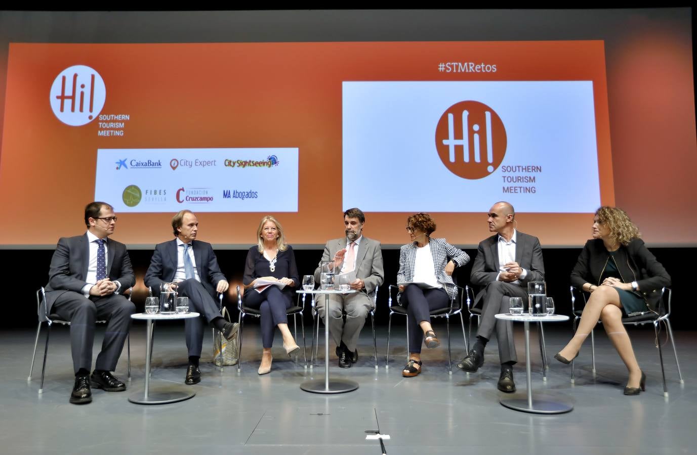
[[[470,257],[445,239],[431,239],[436,223],[429,214],[411,215],[406,220],[406,232],[411,242],[399,249],[399,304],[406,306],[409,325],[409,361],[401,374],[417,376],[421,372],[421,344],[438,347],[436,333],[431,327],[430,310],[447,308],[450,298],[457,294],[452,281],[455,267],[464,266]]]

